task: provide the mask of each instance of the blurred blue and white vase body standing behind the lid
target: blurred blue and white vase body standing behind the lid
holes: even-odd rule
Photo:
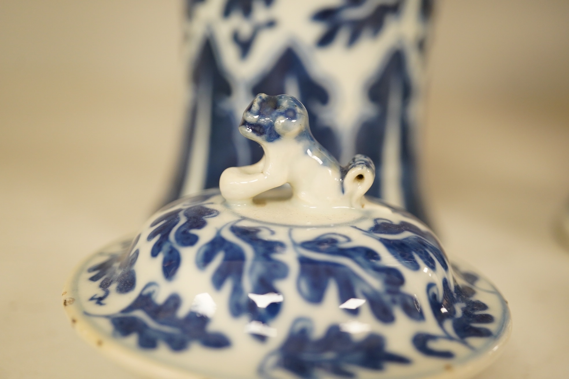
[[[261,159],[236,128],[242,111],[258,93],[289,94],[341,163],[374,161],[368,194],[424,220],[417,118],[430,14],[419,0],[190,0],[185,135],[167,201]]]

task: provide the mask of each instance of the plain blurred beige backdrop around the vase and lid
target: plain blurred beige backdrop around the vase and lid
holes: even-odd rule
[[[569,377],[569,2],[447,1],[430,52],[428,209],[509,299],[480,378]],[[133,378],[84,344],[60,289],[159,203],[178,151],[182,3],[0,0],[0,378]]]

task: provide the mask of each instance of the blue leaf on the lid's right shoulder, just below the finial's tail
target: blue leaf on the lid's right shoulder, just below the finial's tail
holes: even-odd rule
[[[374,225],[364,232],[384,244],[387,251],[410,270],[417,271],[421,268],[415,256],[431,270],[436,270],[435,259],[445,271],[448,270],[447,257],[438,241],[430,232],[420,230],[414,224],[406,221],[394,224],[378,218],[374,220]],[[405,232],[411,235],[397,239],[387,238]]]

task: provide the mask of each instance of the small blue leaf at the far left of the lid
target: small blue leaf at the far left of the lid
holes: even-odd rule
[[[134,289],[137,276],[133,266],[138,259],[139,251],[138,249],[133,251],[133,249],[139,238],[140,235],[132,243],[130,241],[123,242],[122,252],[110,253],[108,259],[87,269],[89,273],[96,272],[89,277],[89,280],[92,282],[101,281],[99,288],[103,290],[102,295],[94,294],[89,300],[95,301],[98,305],[105,305],[103,301],[109,296],[109,288],[113,283],[117,284],[117,293],[128,293]]]

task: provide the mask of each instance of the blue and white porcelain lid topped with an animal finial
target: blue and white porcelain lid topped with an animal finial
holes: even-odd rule
[[[238,131],[258,163],[159,210],[82,263],[63,294],[83,338],[159,378],[466,378],[510,331],[508,306],[417,218],[365,197],[306,108],[259,94]]]

